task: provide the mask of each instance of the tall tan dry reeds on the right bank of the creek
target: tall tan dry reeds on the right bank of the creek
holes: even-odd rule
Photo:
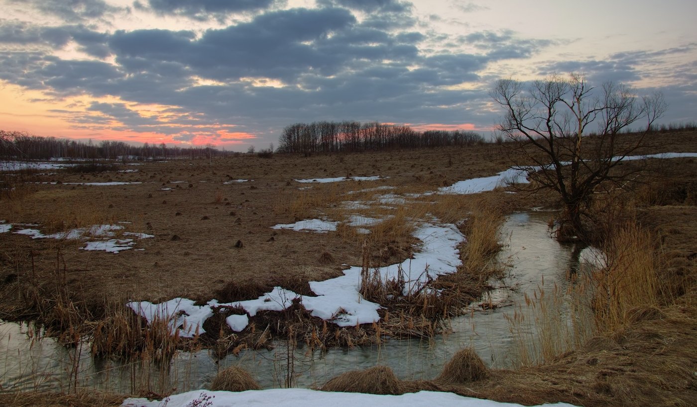
[[[628,222],[613,230],[597,258],[568,276],[567,287],[545,286],[543,280],[532,296],[526,294],[525,304],[505,316],[516,362],[549,362],[594,336],[614,335],[645,314],[660,313],[667,282],[657,279],[656,253],[651,234]]]

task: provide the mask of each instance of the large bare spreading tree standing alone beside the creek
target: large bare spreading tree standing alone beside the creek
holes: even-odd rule
[[[500,79],[490,95],[505,110],[496,129],[513,141],[516,164],[532,161],[542,168],[530,171],[530,178],[562,201],[560,239],[586,236],[583,218],[593,193],[602,184],[627,184],[630,174],[618,166],[647,145],[654,121],[666,111],[660,93],[638,97],[629,86],[611,82],[595,88],[579,74],[527,86]],[[621,136],[640,124],[641,131]]]

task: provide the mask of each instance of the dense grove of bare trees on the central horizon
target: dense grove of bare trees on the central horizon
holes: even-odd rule
[[[445,147],[484,143],[475,131],[415,131],[408,126],[378,122],[296,123],[283,129],[278,152],[361,152],[399,148]]]

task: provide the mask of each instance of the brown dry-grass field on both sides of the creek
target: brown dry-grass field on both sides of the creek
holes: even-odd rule
[[[645,153],[697,152],[694,131],[657,137],[665,141],[660,149]],[[556,205],[549,193],[512,186],[468,195],[432,193],[464,179],[506,170],[511,162],[508,154],[505,145],[491,144],[311,157],[236,154],[121,164],[107,172],[24,170],[16,176],[23,182],[15,184],[11,199],[0,200],[0,220],[13,225],[0,234],[0,318],[40,319],[41,304],[45,308],[56,301],[51,296],[56,292],[69,298],[80,323],[101,321],[114,303],[126,301],[159,303],[183,297],[197,305],[213,298],[229,303],[257,298],[277,286],[311,296],[309,282],[342,276],[348,266],[369,270],[413,257],[420,248],[413,237],[415,228],[434,217],[441,223],[468,220],[459,223],[468,241],[458,246],[463,264],[456,275],[470,278],[439,278],[436,284],[440,285],[434,286],[460,294],[448,298],[454,301],[452,310],[447,305],[438,308],[443,314],[455,314],[461,305],[477,298],[487,288],[489,276],[498,271],[489,262],[491,251],[496,251],[491,240],[496,246],[497,219],[515,210]],[[622,405],[627,397],[636,397],[639,403],[687,405],[696,395],[691,372],[697,371],[697,345],[694,335],[686,334],[697,329],[697,163],[691,158],[650,160],[648,168],[652,172],[638,179],[644,183],[631,192],[631,199],[608,194],[599,200],[596,215],[598,228],[631,221],[655,239],[651,247],[659,258],[660,287],[656,289],[660,293],[646,307],[656,312],[637,314],[628,324],[603,330],[595,342],[542,365],[491,372],[466,385],[443,384],[438,379],[435,384],[405,382],[403,390],[447,390],[522,403]],[[319,182],[352,177],[378,179]],[[309,219],[339,223],[336,230],[325,233],[273,228]],[[372,223],[376,219],[380,221]],[[484,221],[475,223],[480,219],[493,222],[493,229]],[[47,236],[93,225],[123,228],[112,230],[113,236],[89,239],[64,235],[32,239],[14,233],[26,228]],[[482,231],[485,236],[475,239]],[[85,237],[90,233],[83,232]],[[107,238],[132,239],[132,245],[126,243],[128,248],[118,253],[84,250],[86,240]],[[477,242],[482,248],[475,247]],[[28,296],[30,292],[36,298]],[[388,294],[372,293],[373,298],[383,299]],[[419,301],[416,305],[425,300]],[[409,308],[413,303],[392,306],[391,310],[403,314],[413,314],[415,309]],[[632,310],[638,312],[637,307]],[[629,311],[623,312],[627,317]],[[60,321],[56,330],[69,325],[66,318],[70,321],[70,317],[52,318]],[[259,319],[256,324],[269,321]],[[220,328],[220,321],[217,324],[215,328]],[[404,327],[388,328],[393,336],[408,335]],[[366,335],[379,337],[381,329],[367,324]],[[428,336],[435,331],[412,334]],[[275,335],[287,337],[288,333],[278,329]],[[258,342],[259,333],[254,338]],[[211,337],[206,346],[218,342],[220,337]],[[237,344],[226,345],[224,351]],[[346,345],[346,340],[318,344]],[[644,383],[651,383],[649,390],[631,395],[633,386]]]

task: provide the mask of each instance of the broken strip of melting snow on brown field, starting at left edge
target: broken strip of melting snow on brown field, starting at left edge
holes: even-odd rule
[[[5,226],[5,228],[3,228]],[[8,232],[13,227],[12,224],[0,225],[0,232]],[[3,230],[5,229],[5,230]],[[123,226],[119,225],[93,225],[89,228],[71,229],[67,232],[57,232],[52,234],[43,234],[38,229],[20,229],[16,234],[24,234],[31,239],[92,239],[102,238],[99,241],[86,241],[82,250],[100,250],[107,253],[118,253],[122,250],[129,250],[135,246],[133,239],[109,239],[116,236],[114,231],[123,230]],[[131,236],[137,239],[148,239],[155,237],[153,234],[123,232],[123,236]]]

